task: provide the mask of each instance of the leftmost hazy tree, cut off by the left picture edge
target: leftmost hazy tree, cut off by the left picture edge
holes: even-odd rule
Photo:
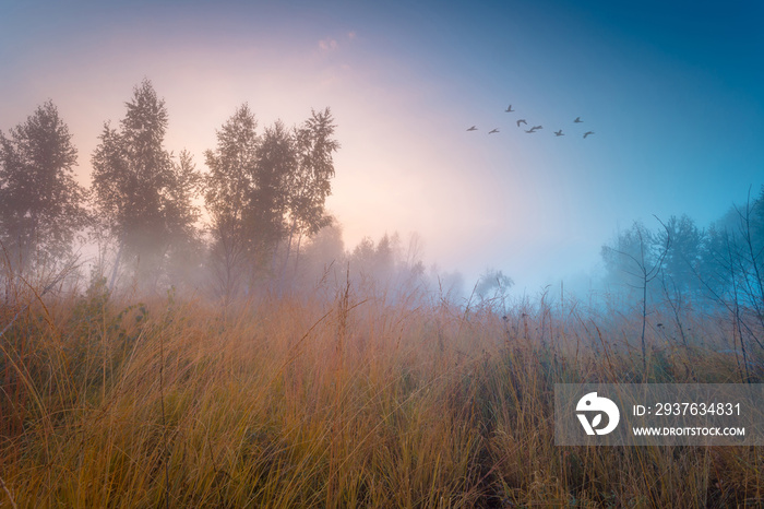
[[[9,137],[0,132],[0,240],[12,269],[71,253],[87,221],[75,164],[69,128],[50,100],[11,128]]]

